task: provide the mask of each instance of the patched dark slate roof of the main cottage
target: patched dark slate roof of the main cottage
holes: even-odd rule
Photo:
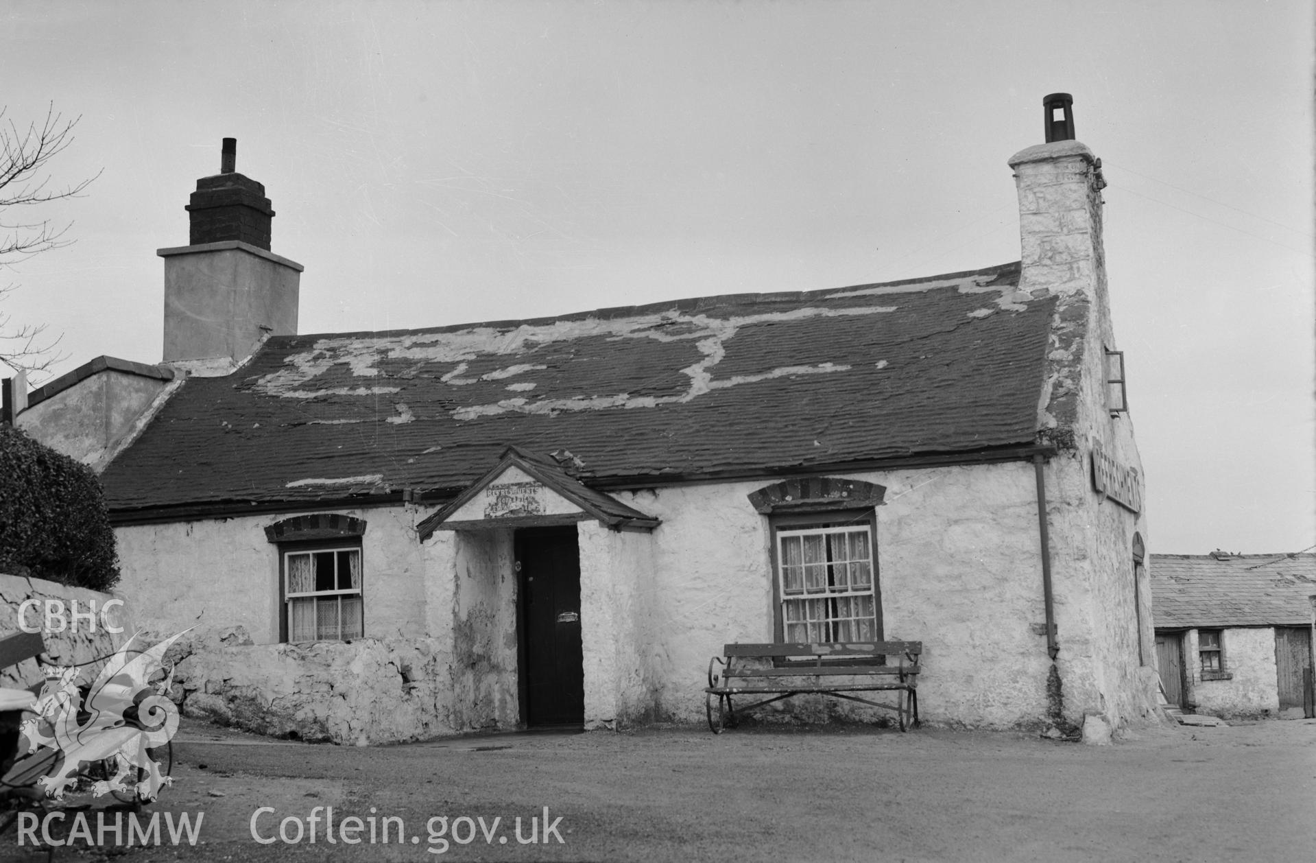
[[[104,472],[113,512],[465,488],[515,445],[586,483],[1037,439],[1054,297],[1019,263],[388,333],[272,337],[190,378]]]

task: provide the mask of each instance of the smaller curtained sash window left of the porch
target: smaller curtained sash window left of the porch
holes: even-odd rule
[[[361,638],[361,549],[288,551],[283,562],[290,642]]]

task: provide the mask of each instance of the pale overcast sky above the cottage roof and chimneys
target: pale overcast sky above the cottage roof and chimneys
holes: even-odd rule
[[[11,0],[0,25],[5,118],[79,117],[53,180],[99,174],[42,213],[75,242],[0,274],[54,374],[161,359],[155,250],[224,137],[305,266],[300,332],[383,330],[1017,260],[1007,160],[1070,92],[1150,551],[1316,545],[1309,3]]]

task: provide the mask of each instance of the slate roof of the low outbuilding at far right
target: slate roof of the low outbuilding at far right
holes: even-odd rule
[[[1149,572],[1157,629],[1312,621],[1316,554],[1153,554]]]

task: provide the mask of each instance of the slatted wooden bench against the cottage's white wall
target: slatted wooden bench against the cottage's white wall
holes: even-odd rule
[[[708,727],[721,734],[737,716],[794,695],[820,693],[895,710],[900,730],[919,724],[919,641],[726,645],[708,663]],[[812,662],[809,662],[812,659]],[[891,662],[891,660],[896,662]],[[721,668],[717,666],[721,664]],[[895,691],[896,704],[855,692]],[[736,704],[733,697],[759,699]]]

